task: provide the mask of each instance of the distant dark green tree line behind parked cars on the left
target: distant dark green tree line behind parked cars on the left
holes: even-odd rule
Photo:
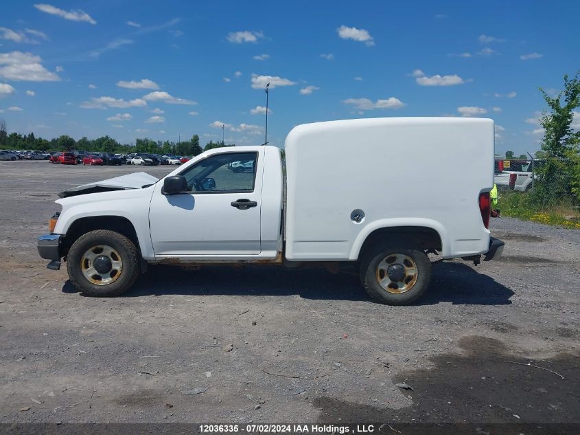
[[[38,151],[67,151],[83,150],[92,153],[149,153],[149,154],[174,154],[193,155],[201,154],[203,151],[222,146],[235,146],[235,144],[225,144],[223,141],[213,142],[210,140],[202,148],[199,136],[193,135],[190,140],[181,142],[165,142],[152,140],[148,137],[135,140],[135,145],[120,144],[117,140],[108,135],[89,139],[82,137],[74,140],[68,135],[54,137],[51,140],[36,137],[34,133],[6,133],[5,120],[0,119],[0,148],[12,150],[38,150]]]

